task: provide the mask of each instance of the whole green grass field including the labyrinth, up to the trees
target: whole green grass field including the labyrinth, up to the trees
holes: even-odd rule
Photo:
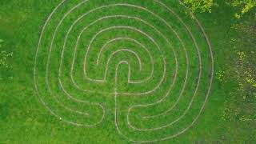
[[[215,80],[230,10],[177,0],[1,0],[0,143],[243,143]],[[232,86],[232,83],[230,83]]]

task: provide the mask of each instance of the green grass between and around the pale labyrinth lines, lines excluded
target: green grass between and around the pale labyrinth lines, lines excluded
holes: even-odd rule
[[[175,18],[173,14],[170,14],[165,9],[161,9],[161,6],[153,1],[90,1],[86,5],[82,5],[78,10],[74,10],[59,26],[59,30],[54,39],[53,49],[50,54],[50,65],[48,71],[48,83],[46,83],[46,66],[47,58],[49,56],[50,42],[53,39],[55,27],[61,20],[62,16],[70,10],[72,7],[81,1],[68,1],[58,9],[54,14],[49,25],[46,26],[46,31],[42,37],[42,43],[38,49],[38,58],[35,58],[35,53],[38,45],[38,38],[40,36],[42,26],[46,22],[46,18],[49,16],[54,7],[58,5],[60,1],[48,2],[48,1],[6,1],[0,2],[0,38],[5,40],[3,48],[8,51],[14,52],[14,58],[12,60],[13,70],[8,74],[12,74],[14,79],[7,78],[6,72],[1,71],[3,75],[1,85],[1,101],[0,101],[0,142],[4,143],[129,143],[129,141],[118,134],[118,130],[115,127],[115,103],[114,92],[118,93],[143,93],[148,90],[152,90],[158,85],[158,82],[162,78],[164,73],[162,58],[166,58],[166,78],[162,82],[159,90],[156,90],[153,94],[146,94],[146,96],[134,96],[134,95],[122,95],[118,97],[118,125],[120,130],[126,134],[127,137],[135,139],[137,141],[154,140],[159,138],[165,138],[168,135],[176,134],[182,128],[189,126],[192,120],[198,114],[204,98],[206,96],[207,86],[209,83],[210,74],[210,52],[206,45],[206,40],[203,38],[201,31],[195,24],[193,19],[189,15],[185,14],[185,9],[178,5],[178,2],[162,1],[167,6],[172,8],[182,18],[186,25],[190,28],[196,42],[201,51],[202,56],[202,79],[198,86],[198,94],[191,106],[189,114],[182,118],[174,126],[163,130],[156,130],[150,132],[130,130],[127,126],[126,115],[130,106],[138,104],[148,104],[158,101],[163,98],[166,92],[170,89],[170,84],[174,80],[175,59],[174,53],[171,50],[171,46],[168,45],[166,39],[170,41],[174,50],[177,53],[178,60],[178,76],[171,93],[164,99],[162,103],[154,106],[148,106],[146,108],[134,109],[130,114],[131,123],[140,128],[154,128],[158,126],[166,126],[166,124],[174,121],[182,112],[186,110],[186,106],[189,105],[193,96],[193,92],[196,86],[196,80],[198,78],[198,54],[193,41],[188,35],[188,32],[184,30],[184,27],[178,18]],[[166,22],[170,23],[177,30],[178,34],[186,46],[187,54],[189,55],[190,71],[187,77],[187,85],[182,98],[178,102],[174,110],[170,111],[170,114],[165,114],[158,118],[142,119],[142,116],[150,116],[160,114],[161,112],[168,110],[170,106],[173,106],[182,90],[182,84],[185,81],[186,76],[186,53],[182,48],[181,43],[174,33],[168,29],[168,27],[158,18],[152,17],[152,15],[146,13],[143,10],[135,8],[127,8],[126,6],[113,6],[110,8],[98,10],[95,13],[88,14],[88,17],[83,18],[81,22],[78,22],[74,29],[70,31],[68,41],[66,43],[66,50],[64,51],[62,76],[60,79],[63,82],[63,86],[74,98],[89,102],[97,102],[105,107],[105,117],[97,126],[74,126],[66,122],[63,122],[59,118],[50,114],[49,110],[46,110],[46,106],[39,101],[42,98],[46,105],[50,107],[54,113],[60,115],[62,119],[66,119],[70,122],[78,122],[82,124],[94,124],[98,122],[102,117],[102,109],[98,106],[91,105],[90,103],[72,102],[66,97],[59,86],[58,69],[60,66],[60,59],[62,54],[62,45],[66,32],[70,25],[81,14],[84,14],[88,10],[92,10],[95,7],[114,4],[117,2],[134,3],[138,6],[145,6],[147,9],[152,10],[154,13],[159,14]],[[198,19],[205,27],[206,33],[210,38],[211,45],[214,51],[214,65],[216,70],[222,68],[222,61],[225,58],[225,54],[228,54],[229,47],[227,46],[228,38],[225,34],[228,31],[230,23],[225,23],[230,20],[230,13],[228,9],[219,8],[218,13],[213,14],[201,14],[198,15]],[[98,18],[102,18],[107,15],[130,15],[138,18],[145,19],[146,22],[152,24],[157,28],[166,39],[158,34],[150,26],[146,26],[145,23],[139,22],[134,19],[127,18],[109,18],[97,22],[95,25],[88,27],[85,33],[81,35],[81,40],[78,42],[78,49],[76,50],[76,57],[74,56],[74,46],[78,39],[79,32]],[[109,71],[106,75],[107,82],[98,83],[90,82],[84,78],[83,75],[83,61],[86,55],[86,47],[88,46],[90,39],[98,31],[110,27],[110,26],[134,26],[139,30],[145,31],[152,38],[156,40],[161,50],[157,49],[157,46],[153,42],[150,42],[149,38],[145,35],[134,32],[134,30],[127,29],[114,29],[106,31],[98,36],[91,45],[91,50],[88,52],[86,70],[88,77],[101,79],[104,76],[104,70],[106,69],[107,59],[115,50],[121,48],[127,48],[136,52],[142,60],[142,71],[139,71],[139,63],[134,54],[127,52],[120,52],[111,59]],[[139,81],[150,75],[152,66],[150,64],[150,57],[146,53],[146,50],[142,49],[142,46],[134,42],[126,40],[120,40],[113,42],[106,46],[106,50],[102,51],[102,55],[99,59],[99,66],[95,66],[96,58],[100,47],[104,45],[108,40],[118,37],[134,38],[148,47],[150,54],[154,58],[154,77],[148,82],[142,84],[128,84],[128,66],[122,65],[118,67],[118,82],[115,82],[116,67],[118,62],[126,60],[130,62],[130,75],[131,80]],[[38,86],[38,93],[34,89],[33,69],[34,60],[37,59],[36,68],[36,84]],[[70,81],[70,67],[74,60],[74,81],[78,83],[81,90],[74,86],[74,83]],[[85,93],[82,90],[94,90],[93,93]],[[69,110],[65,110],[63,106],[59,106],[56,99],[52,96],[57,96],[59,102],[62,102],[64,106],[69,107],[72,110],[79,110],[87,112],[90,116],[84,116],[81,114],[75,114]],[[202,114],[198,118],[198,121],[184,134],[179,135],[176,138],[171,138],[160,143],[191,143],[191,142],[245,142],[248,138],[246,125],[241,124],[235,126],[232,122],[223,122],[221,120],[223,102],[225,93],[218,85],[218,82],[214,81],[212,90],[206,107]]]

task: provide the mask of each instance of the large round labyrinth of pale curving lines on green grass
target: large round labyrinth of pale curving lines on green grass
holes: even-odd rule
[[[214,74],[206,33],[178,0],[63,0],[34,59],[35,90],[51,114],[75,126],[109,120],[130,142],[193,126]]]

